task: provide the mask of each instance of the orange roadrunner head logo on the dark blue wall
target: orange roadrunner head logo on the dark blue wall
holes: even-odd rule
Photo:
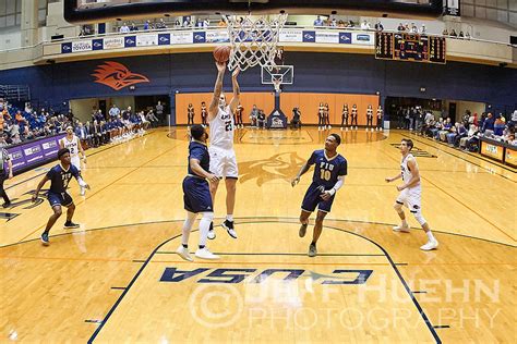
[[[97,65],[92,76],[96,77],[95,83],[109,86],[115,90],[149,82],[146,76],[133,73],[125,65],[113,61],[107,61],[104,64]]]

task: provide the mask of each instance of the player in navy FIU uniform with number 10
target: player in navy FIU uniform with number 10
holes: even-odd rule
[[[341,137],[330,134],[325,140],[325,149],[314,150],[308,162],[303,164],[298,175],[292,180],[294,186],[300,182],[300,177],[314,164],[314,175],[312,184],[305,193],[300,213],[300,237],[305,236],[309,217],[316,209],[317,216],[314,225],[314,233],[309,246],[309,257],[317,254],[316,242],[323,230],[323,220],[330,211],[336,192],[342,186],[345,175],[347,175],[347,159],[339,155],[336,149],[341,144]]]

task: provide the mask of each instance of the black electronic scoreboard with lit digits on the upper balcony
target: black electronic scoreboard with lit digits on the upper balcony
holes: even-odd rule
[[[376,33],[375,58],[445,63],[445,38],[408,33]]]

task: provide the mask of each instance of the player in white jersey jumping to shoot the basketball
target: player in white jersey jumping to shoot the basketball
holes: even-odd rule
[[[225,179],[226,184],[226,220],[223,228],[228,234],[237,238],[237,233],[233,228],[233,208],[236,205],[236,186],[239,177],[239,170],[237,168],[237,158],[233,150],[233,112],[239,105],[240,88],[237,83],[237,75],[239,69],[236,69],[231,74],[231,83],[233,86],[233,98],[230,103],[226,102],[226,97],[223,91],[223,78],[225,76],[226,63],[216,62],[217,79],[214,87],[214,96],[208,107],[208,123],[211,127],[211,146],[208,148],[211,155],[211,172],[214,173],[218,180],[211,183],[212,199],[215,201],[219,180]],[[214,225],[211,225],[208,238],[215,238]]]

